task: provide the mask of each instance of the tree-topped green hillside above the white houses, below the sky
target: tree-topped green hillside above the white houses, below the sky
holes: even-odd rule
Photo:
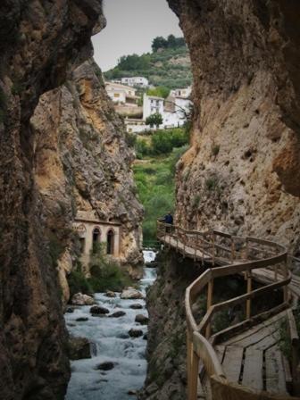
[[[152,53],[123,55],[116,67],[104,72],[104,78],[143,76],[155,87],[170,89],[191,85],[190,59],[182,37],[155,37],[152,48]]]

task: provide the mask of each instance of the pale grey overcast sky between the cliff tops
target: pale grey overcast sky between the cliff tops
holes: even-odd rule
[[[92,38],[95,60],[103,71],[121,55],[151,50],[154,37],[183,36],[166,0],[104,0],[106,28]]]

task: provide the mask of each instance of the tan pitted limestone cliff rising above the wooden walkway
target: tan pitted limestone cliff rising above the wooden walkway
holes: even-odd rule
[[[299,251],[297,2],[169,0],[190,50],[195,116],[177,222]]]

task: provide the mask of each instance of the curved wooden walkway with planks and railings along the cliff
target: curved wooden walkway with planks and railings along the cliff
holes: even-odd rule
[[[157,223],[157,237],[177,252],[202,262],[204,272],[186,290],[187,392],[188,400],[271,400],[292,399],[289,363],[279,347],[285,321],[291,337],[292,370],[298,367],[299,337],[290,304],[300,295],[299,278],[288,269],[287,249],[256,237],[235,237],[216,230],[198,232]],[[246,293],[221,303],[213,302],[213,281],[243,274]],[[253,288],[253,280],[262,287]],[[267,312],[257,313],[252,300],[282,290],[282,301]],[[207,307],[196,321],[193,304],[205,294]],[[242,321],[221,331],[212,331],[218,312],[234,306],[243,309]],[[195,308],[195,307],[194,307]],[[241,317],[241,316],[240,316]]]

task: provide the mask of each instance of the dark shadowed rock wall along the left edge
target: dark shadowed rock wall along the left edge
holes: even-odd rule
[[[34,179],[29,120],[38,98],[91,55],[102,2],[4,0],[0,5],[0,393],[63,399],[70,376],[58,291]],[[101,17],[101,18],[100,18]]]

